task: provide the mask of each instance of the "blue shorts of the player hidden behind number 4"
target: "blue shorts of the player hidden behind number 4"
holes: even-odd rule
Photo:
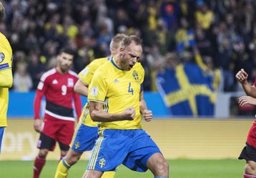
[[[74,132],[72,140],[72,150],[75,152],[86,152],[92,150],[95,145],[95,141],[99,137],[99,127],[89,127],[81,124],[77,132]]]

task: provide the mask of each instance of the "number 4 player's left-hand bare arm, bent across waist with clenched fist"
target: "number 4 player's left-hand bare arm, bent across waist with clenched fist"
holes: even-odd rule
[[[127,108],[120,114],[104,112],[103,103],[89,101],[89,113],[94,122],[114,122],[120,120],[133,120],[135,117],[134,108]]]

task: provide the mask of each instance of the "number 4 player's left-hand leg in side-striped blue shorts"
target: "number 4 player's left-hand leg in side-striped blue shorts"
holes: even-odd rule
[[[122,164],[132,145],[127,130],[101,130],[84,177],[100,177]],[[114,176],[113,172],[110,173]],[[105,177],[107,177],[105,173]]]

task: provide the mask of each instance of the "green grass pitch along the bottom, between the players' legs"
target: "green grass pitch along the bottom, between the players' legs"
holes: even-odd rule
[[[171,159],[169,162],[169,177],[172,178],[241,178],[245,161],[238,159],[220,160],[196,160],[196,159]],[[32,177],[32,161],[0,161],[1,178],[27,178]],[[54,177],[58,162],[46,161],[41,172],[41,178]],[[88,161],[79,161],[69,170],[69,177],[82,177]],[[152,173],[133,172],[123,165],[117,169],[116,178],[148,178],[153,177]]]

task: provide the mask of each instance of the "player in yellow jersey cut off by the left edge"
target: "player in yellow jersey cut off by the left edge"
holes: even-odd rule
[[[4,17],[4,5],[0,2],[0,19]],[[9,88],[13,83],[11,73],[12,51],[9,41],[0,32],[0,152],[4,128],[7,126],[6,113],[9,102]]]

